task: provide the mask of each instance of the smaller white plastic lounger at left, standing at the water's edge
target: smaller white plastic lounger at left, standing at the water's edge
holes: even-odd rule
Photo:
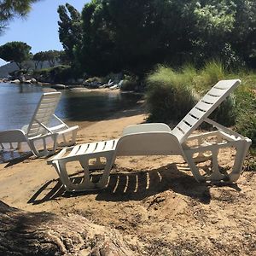
[[[0,131],[0,149],[20,149],[20,143],[27,143],[32,153],[38,157],[55,154],[59,146],[71,146],[76,142],[79,126],[68,127],[55,116],[55,108],[61,98],[61,92],[48,92],[41,96],[38,107],[32,115],[29,125],[24,125],[21,130]],[[49,126],[52,118],[58,125]],[[48,141],[52,140],[49,149]],[[38,144],[43,142],[43,150],[38,149]],[[41,149],[41,148],[40,148]]]

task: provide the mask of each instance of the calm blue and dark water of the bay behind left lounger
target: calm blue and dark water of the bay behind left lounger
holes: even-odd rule
[[[0,131],[29,123],[43,93],[42,86],[0,84]],[[131,108],[139,95],[62,90],[56,114],[72,121],[96,121]]]

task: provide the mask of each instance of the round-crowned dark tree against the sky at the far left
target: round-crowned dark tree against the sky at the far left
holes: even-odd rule
[[[4,61],[15,61],[17,66],[22,69],[24,61],[30,59],[31,46],[23,42],[9,42],[0,46],[0,58]]]

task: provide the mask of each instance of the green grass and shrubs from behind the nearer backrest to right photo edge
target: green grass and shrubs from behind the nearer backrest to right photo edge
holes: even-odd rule
[[[210,115],[222,125],[235,125],[236,131],[253,141],[256,148],[256,75],[241,70],[237,74],[224,72],[218,61],[209,61],[196,72],[186,65],[181,71],[158,67],[148,75],[146,102],[152,121],[171,122],[182,119],[201,96],[220,79],[241,78],[242,84]],[[188,85],[189,84],[189,85]],[[193,93],[194,91],[194,93]]]

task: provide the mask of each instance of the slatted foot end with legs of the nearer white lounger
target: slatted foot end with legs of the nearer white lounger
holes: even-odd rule
[[[59,154],[48,160],[47,163],[55,167],[55,171],[67,191],[103,189],[108,183],[109,172],[115,160],[117,141],[85,143],[63,148]],[[91,165],[90,160],[96,161]],[[83,168],[84,175],[79,183],[75,183],[73,176],[68,175],[67,169],[72,162],[79,162],[79,166]],[[91,170],[103,170],[102,177],[94,182],[90,176]]]

